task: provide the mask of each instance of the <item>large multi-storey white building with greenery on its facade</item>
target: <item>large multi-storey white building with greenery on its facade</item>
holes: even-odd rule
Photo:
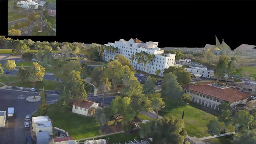
[[[164,76],[164,69],[168,68],[169,66],[174,66],[175,54],[164,54],[164,50],[161,50],[157,47],[158,42],[144,43],[137,38],[131,38],[129,41],[120,39],[119,41],[115,41],[114,43],[109,42],[108,44],[105,44],[105,46],[112,46],[114,48],[118,48],[118,52],[107,52],[106,50],[104,50],[104,61],[114,60],[114,57],[117,54],[121,54],[130,61],[130,64],[135,70],[141,70],[150,74],[156,74],[156,70],[160,70],[161,73],[159,74],[159,76]],[[146,65],[142,63],[137,64],[137,59],[134,58],[134,60],[132,61],[131,58],[132,54],[135,55],[136,52],[154,54],[155,58],[151,62],[147,62]]]

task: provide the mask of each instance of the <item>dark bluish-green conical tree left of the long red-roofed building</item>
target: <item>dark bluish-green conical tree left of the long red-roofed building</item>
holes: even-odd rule
[[[183,89],[176,80],[176,76],[171,72],[164,74],[162,84],[162,95],[164,97],[179,99],[183,94]]]

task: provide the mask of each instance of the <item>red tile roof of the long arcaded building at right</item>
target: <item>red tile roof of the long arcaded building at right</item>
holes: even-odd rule
[[[243,100],[252,96],[249,92],[242,92],[240,90],[235,90],[233,88],[216,88],[214,86],[210,86],[208,84],[198,84],[192,86],[184,86],[184,88],[196,92],[200,92],[202,94],[206,94],[208,96],[212,96],[214,98],[218,98],[220,100],[225,100],[228,102],[236,102],[238,100]]]

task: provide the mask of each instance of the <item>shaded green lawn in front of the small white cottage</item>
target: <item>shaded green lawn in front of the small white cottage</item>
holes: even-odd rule
[[[37,115],[36,112],[33,116]],[[70,108],[51,104],[46,116],[50,117],[54,127],[67,131],[74,139],[101,135],[100,124],[93,117],[72,113]]]

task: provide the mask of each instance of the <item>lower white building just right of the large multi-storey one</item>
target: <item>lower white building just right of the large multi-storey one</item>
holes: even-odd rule
[[[190,59],[180,59],[179,61],[175,60],[175,66],[188,66],[188,68],[184,68],[186,72],[190,72],[191,74],[200,74],[204,78],[214,77],[213,70],[208,70],[206,66],[198,62],[191,62]]]

